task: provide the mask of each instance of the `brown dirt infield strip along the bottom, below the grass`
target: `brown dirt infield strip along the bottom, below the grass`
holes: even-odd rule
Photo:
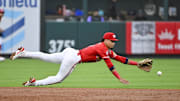
[[[0,87],[0,101],[180,101],[180,89]]]

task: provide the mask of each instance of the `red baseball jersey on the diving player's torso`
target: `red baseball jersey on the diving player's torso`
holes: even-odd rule
[[[113,51],[108,49],[104,42],[97,43],[95,45],[88,46],[80,50],[81,62],[94,62],[104,59],[108,62],[108,67],[113,66],[110,57],[113,56]]]

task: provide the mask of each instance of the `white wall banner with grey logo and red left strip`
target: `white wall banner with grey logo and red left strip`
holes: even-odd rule
[[[155,22],[127,23],[127,54],[155,53]]]

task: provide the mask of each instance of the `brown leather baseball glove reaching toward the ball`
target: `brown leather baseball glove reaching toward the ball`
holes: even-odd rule
[[[150,72],[152,68],[152,63],[152,59],[146,58],[144,60],[139,61],[137,67],[146,72]]]

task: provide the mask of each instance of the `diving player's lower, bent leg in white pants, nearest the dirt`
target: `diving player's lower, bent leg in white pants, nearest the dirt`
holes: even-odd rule
[[[25,84],[25,86],[50,85],[62,82],[73,71],[75,64],[81,60],[77,53],[78,51],[74,49],[69,49],[65,52],[64,59],[56,76],[49,76],[48,78]]]

